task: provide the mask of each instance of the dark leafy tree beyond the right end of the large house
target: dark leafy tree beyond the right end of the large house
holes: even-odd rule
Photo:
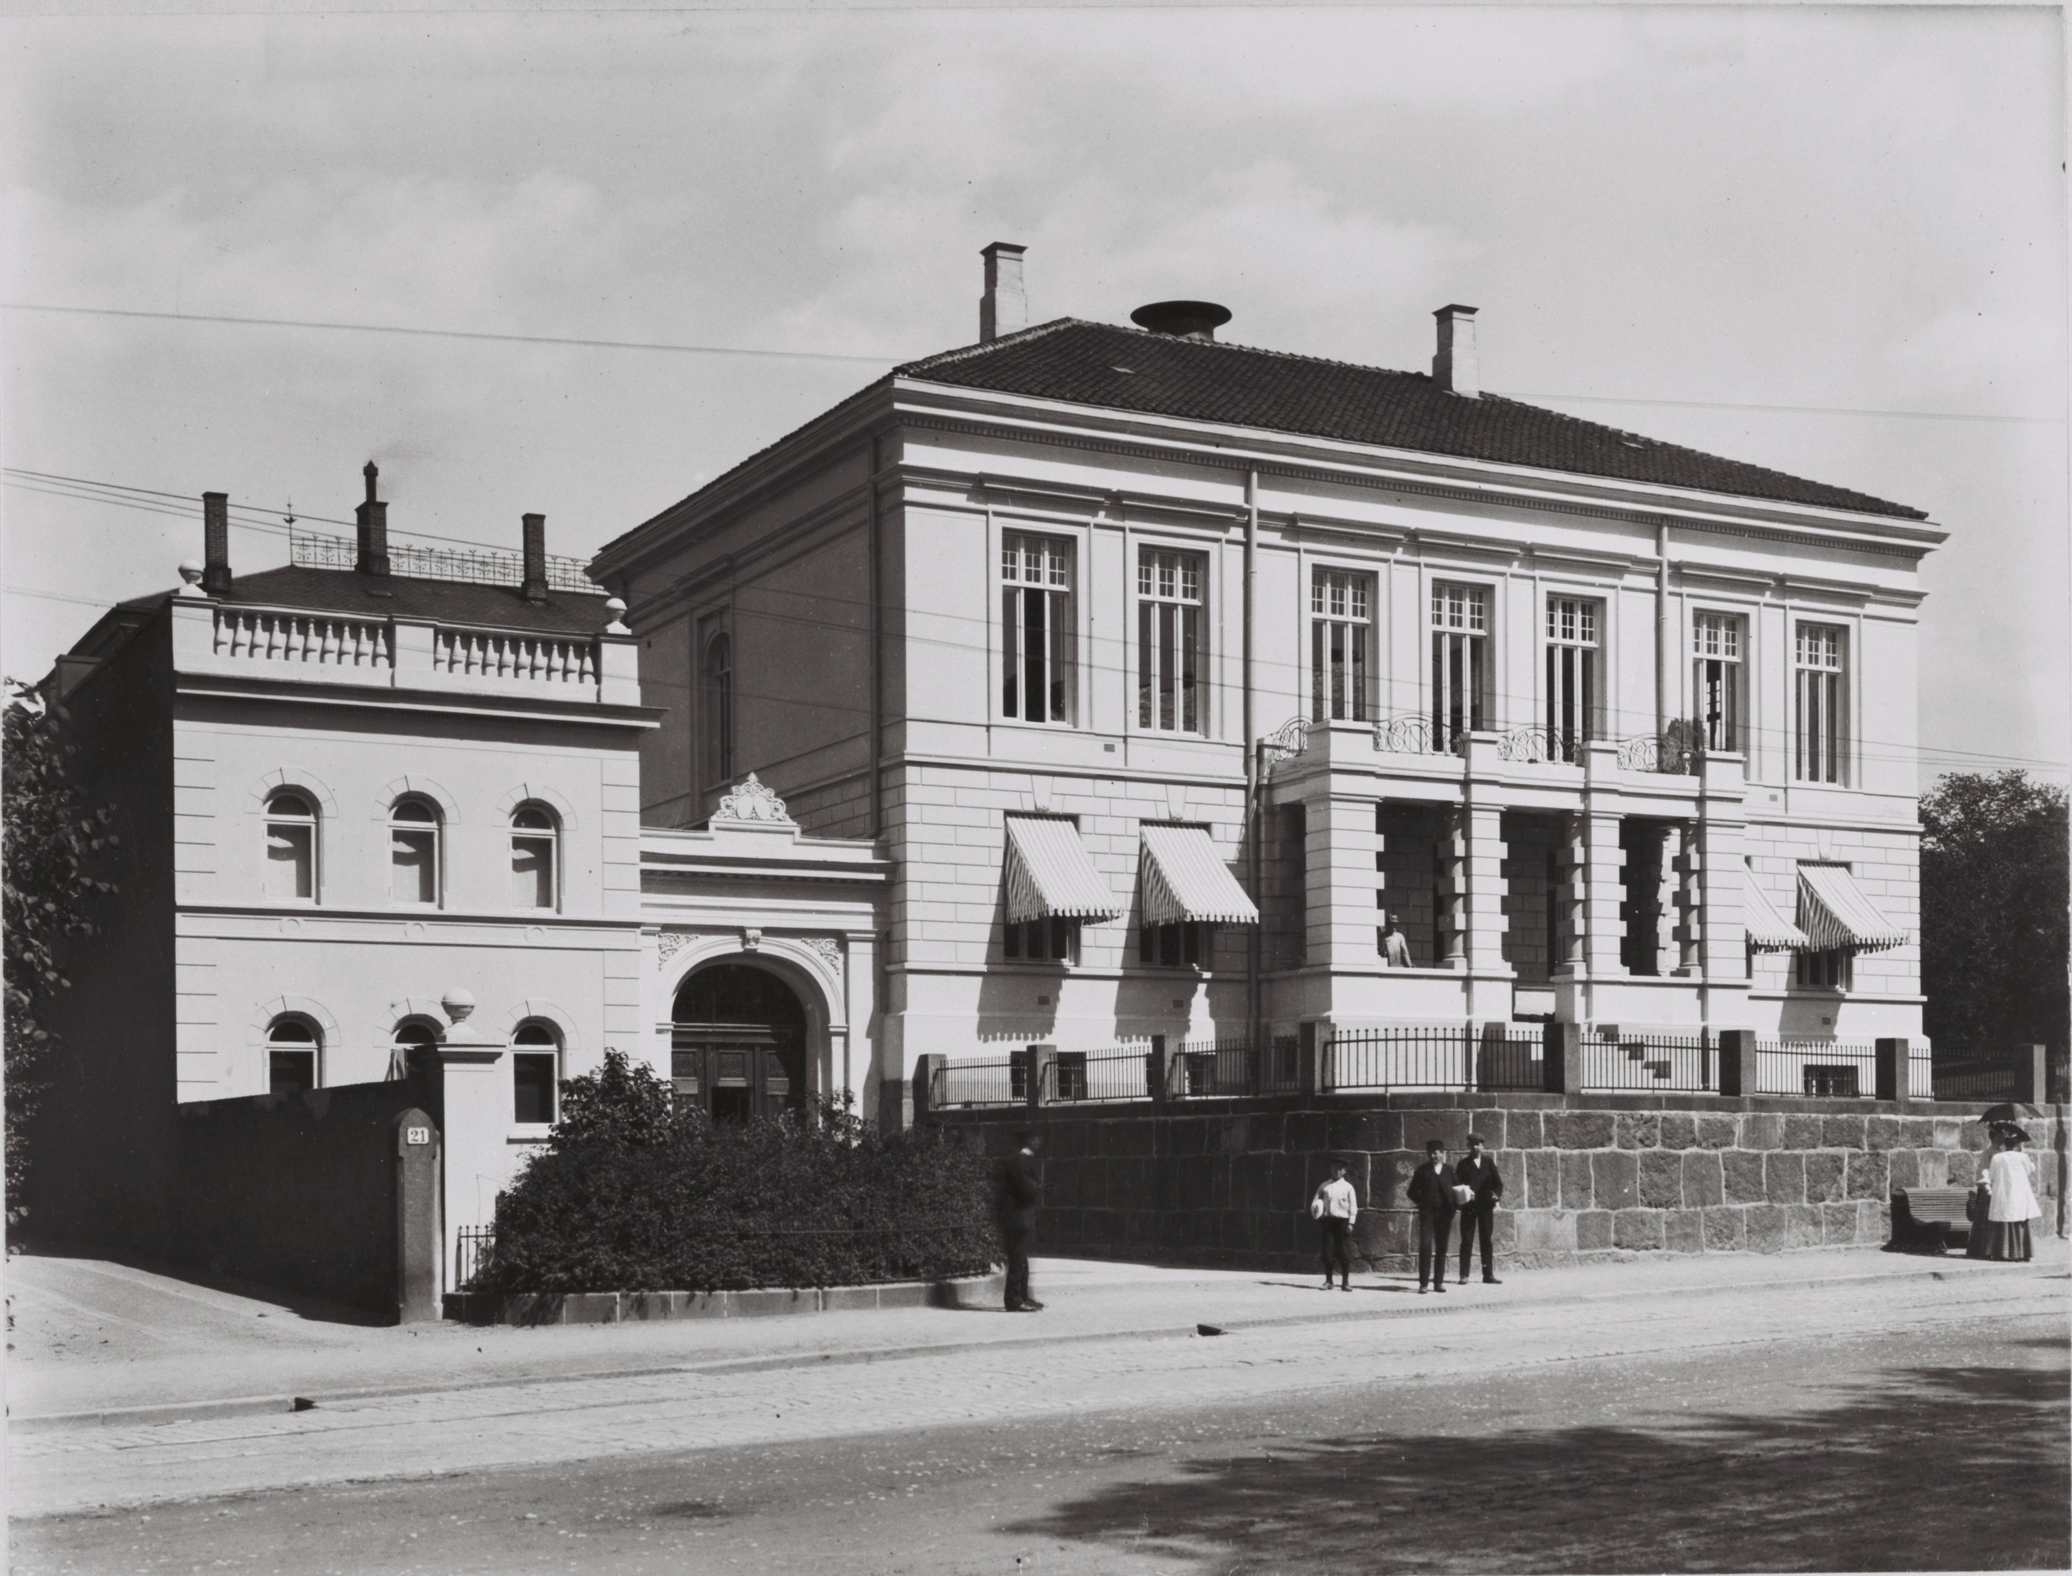
[[[2066,791],[1952,772],[1921,801],[1923,1027],[1941,1056],[2066,1048]]]

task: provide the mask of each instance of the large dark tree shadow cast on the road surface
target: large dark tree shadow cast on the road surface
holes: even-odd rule
[[[1181,1472],[1005,1530],[1216,1572],[2066,1570],[2072,1559],[2062,1363],[1898,1369],[1780,1419],[1312,1439]]]

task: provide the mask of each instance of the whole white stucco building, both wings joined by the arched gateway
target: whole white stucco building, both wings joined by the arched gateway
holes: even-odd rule
[[[52,675],[128,828],[60,1147],[431,1058],[452,1238],[607,1046],[899,1125],[1034,1044],[1919,1038],[1937,526],[1490,396],[1467,307],[1394,373],[1024,327],[1019,271],[588,578],[539,516],[392,549],[371,466],[356,541],[234,576],[209,495]],[[149,1216],[151,1143],[46,1218]]]

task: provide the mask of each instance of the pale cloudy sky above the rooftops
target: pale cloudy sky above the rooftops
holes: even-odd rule
[[[516,543],[539,509],[588,553],[974,340],[978,249],[1017,240],[1036,319],[1206,296],[1227,340],[1423,369],[1467,300],[1488,387],[1929,509],[1927,768],[2066,777],[2055,10],[396,10],[0,43],[10,675],[174,584],[203,489],[321,528],[371,456],[396,530]],[[238,317],[419,333],[207,321]],[[249,518],[236,567],[286,561]]]

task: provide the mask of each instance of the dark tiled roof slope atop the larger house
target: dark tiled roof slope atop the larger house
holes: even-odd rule
[[[1109,410],[1927,520],[1904,503],[1658,443],[1500,393],[1463,400],[1423,373],[1181,340],[1075,317],[914,360],[895,373]]]

